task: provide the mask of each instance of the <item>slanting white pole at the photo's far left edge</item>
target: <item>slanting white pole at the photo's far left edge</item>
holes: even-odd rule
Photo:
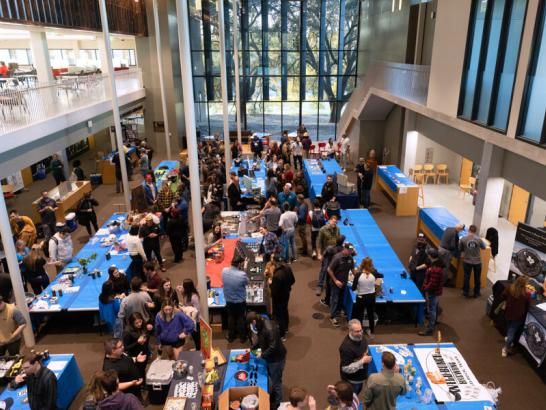
[[[34,347],[34,332],[32,331],[32,323],[30,323],[30,315],[28,313],[28,306],[25,300],[25,289],[23,288],[23,280],[21,277],[21,270],[19,269],[19,262],[17,262],[15,244],[12,240],[13,234],[11,233],[9,224],[6,201],[4,199],[4,195],[0,195],[0,197],[0,235],[2,235],[2,243],[4,244],[4,252],[6,253],[6,260],[8,262],[9,276],[11,278],[11,285],[15,296],[15,304],[27,322],[27,325],[23,330],[25,346]],[[5,302],[7,303],[8,301],[6,300]]]

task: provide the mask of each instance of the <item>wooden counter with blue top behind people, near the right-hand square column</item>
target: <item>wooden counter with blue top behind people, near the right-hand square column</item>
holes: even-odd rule
[[[460,221],[446,208],[420,208],[419,217],[417,219],[417,232],[422,232],[434,246],[439,247],[446,228],[453,227],[459,223]],[[459,232],[459,238],[462,238],[467,233],[466,230],[462,230]],[[485,239],[483,239],[483,241],[487,244]],[[480,251],[480,255],[482,258],[480,286],[485,288],[487,286],[487,271],[489,268],[489,260],[491,259],[491,248],[486,246],[485,249]],[[464,281],[462,260],[460,258],[452,258],[451,265],[457,272],[455,286],[462,289]]]

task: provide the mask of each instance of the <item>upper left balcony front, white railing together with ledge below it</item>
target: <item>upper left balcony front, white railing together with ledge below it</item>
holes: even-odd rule
[[[145,97],[140,70],[116,71],[114,75],[120,106]],[[68,75],[50,84],[11,80],[2,83],[3,152],[30,142],[29,137],[36,140],[111,111],[110,82],[106,75]]]

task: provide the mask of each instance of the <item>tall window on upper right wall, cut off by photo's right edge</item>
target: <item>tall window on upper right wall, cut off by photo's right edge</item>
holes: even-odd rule
[[[546,144],[546,1],[541,2],[521,114],[522,139]]]

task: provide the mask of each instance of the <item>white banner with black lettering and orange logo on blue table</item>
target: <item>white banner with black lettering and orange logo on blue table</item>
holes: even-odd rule
[[[414,353],[437,402],[492,401],[457,348],[415,346]]]

